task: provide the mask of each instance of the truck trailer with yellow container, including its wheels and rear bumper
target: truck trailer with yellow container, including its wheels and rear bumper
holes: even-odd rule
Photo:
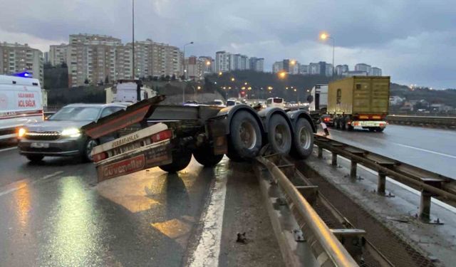
[[[363,127],[382,132],[390,98],[390,77],[353,76],[328,85],[327,114],[336,129]]]

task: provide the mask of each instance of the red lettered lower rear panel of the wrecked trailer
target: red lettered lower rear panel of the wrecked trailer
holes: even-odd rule
[[[172,162],[170,140],[105,159],[96,164],[98,182]]]

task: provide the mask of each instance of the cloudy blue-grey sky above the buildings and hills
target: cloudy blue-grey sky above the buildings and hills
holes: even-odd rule
[[[368,63],[393,82],[456,88],[454,0],[135,0],[135,38],[187,46],[187,55],[216,51],[274,61]],[[131,38],[131,0],[0,0],[0,41],[48,51],[71,33]]]

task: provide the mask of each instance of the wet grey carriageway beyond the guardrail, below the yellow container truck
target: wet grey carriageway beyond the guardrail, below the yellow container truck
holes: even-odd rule
[[[330,138],[456,179],[456,131],[388,125],[383,132],[329,129]]]

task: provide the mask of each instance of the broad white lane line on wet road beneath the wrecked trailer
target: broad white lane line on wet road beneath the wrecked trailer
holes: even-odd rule
[[[214,187],[212,187],[209,205],[202,216],[202,234],[195,251],[189,258],[187,266],[219,266],[226,195],[227,175],[222,174],[216,178]]]

